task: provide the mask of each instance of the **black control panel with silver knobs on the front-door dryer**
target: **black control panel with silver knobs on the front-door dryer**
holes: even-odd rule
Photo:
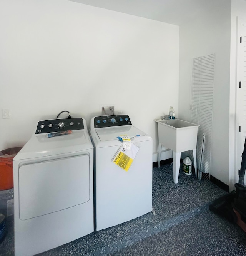
[[[35,134],[84,129],[82,118],[59,118],[39,121]]]

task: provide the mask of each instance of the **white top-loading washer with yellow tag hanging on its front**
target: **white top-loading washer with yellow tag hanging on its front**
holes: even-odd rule
[[[152,138],[131,124],[128,115],[91,119],[94,144],[94,204],[96,230],[130,221],[152,211]],[[129,168],[112,162],[128,135],[139,150]]]

